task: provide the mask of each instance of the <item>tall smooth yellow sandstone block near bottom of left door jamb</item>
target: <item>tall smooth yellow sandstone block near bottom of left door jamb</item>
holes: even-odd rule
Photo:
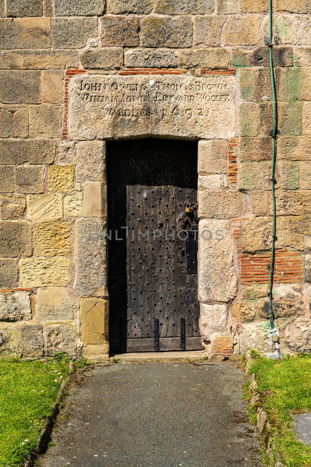
[[[103,298],[80,298],[81,341],[84,345],[109,341],[109,302]]]

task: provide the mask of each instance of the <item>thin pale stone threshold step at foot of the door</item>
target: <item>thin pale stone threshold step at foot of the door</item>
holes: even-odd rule
[[[120,363],[130,361],[185,361],[198,360],[204,357],[204,350],[191,350],[189,352],[130,352],[128,354],[113,354],[109,360],[118,360]]]

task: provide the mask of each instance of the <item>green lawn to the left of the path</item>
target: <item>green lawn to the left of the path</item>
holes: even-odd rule
[[[0,359],[0,466],[20,466],[51,414],[68,359]]]

